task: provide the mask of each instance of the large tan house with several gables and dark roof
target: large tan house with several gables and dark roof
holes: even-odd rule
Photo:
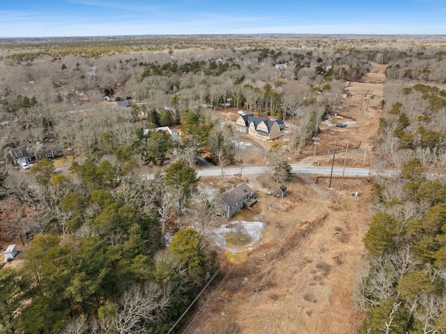
[[[240,115],[236,121],[236,130],[260,139],[276,139],[285,135],[285,123],[282,119],[272,121],[254,114]]]

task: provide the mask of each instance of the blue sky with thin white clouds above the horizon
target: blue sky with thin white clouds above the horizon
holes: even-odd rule
[[[0,0],[0,38],[446,34],[446,0]]]

